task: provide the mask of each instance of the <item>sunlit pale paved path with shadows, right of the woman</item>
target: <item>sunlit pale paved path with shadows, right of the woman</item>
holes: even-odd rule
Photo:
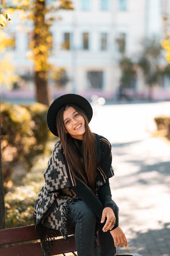
[[[112,145],[112,198],[128,247],[118,253],[170,256],[170,142],[153,137],[154,117],[170,103],[93,106],[91,130]]]

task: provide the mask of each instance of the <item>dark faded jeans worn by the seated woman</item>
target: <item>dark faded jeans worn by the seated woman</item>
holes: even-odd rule
[[[118,222],[118,207],[116,211],[116,222]],[[96,215],[83,201],[78,200],[69,204],[68,217],[68,227],[75,227],[78,256],[94,256]],[[114,256],[116,247],[113,238],[109,231],[102,231],[103,226],[103,223],[99,225],[100,256]]]

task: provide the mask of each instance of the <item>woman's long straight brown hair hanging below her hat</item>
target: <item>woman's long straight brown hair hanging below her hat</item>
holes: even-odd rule
[[[82,143],[83,157],[81,156],[77,141],[65,131],[63,113],[69,107],[73,107],[85,119],[85,133]],[[74,170],[77,171],[77,173],[83,178],[84,183],[94,191],[98,162],[97,142],[94,134],[89,128],[88,119],[85,112],[74,104],[68,104],[58,111],[56,117],[56,126],[61,144],[63,146],[65,158],[72,175],[78,178],[74,173]]]

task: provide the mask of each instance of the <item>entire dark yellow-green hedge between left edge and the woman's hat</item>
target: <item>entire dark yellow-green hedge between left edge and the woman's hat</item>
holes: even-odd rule
[[[1,148],[4,181],[10,179],[13,168],[22,162],[26,169],[31,159],[46,148],[50,132],[46,125],[48,107],[35,103],[19,106],[1,103]]]

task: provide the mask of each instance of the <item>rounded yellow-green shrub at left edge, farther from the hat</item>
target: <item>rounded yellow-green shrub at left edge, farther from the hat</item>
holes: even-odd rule
[[[28,136],[31,133],[31,114],[26,108],[1,103],[1,149],[4,180],[17,162],[29,153]]]

